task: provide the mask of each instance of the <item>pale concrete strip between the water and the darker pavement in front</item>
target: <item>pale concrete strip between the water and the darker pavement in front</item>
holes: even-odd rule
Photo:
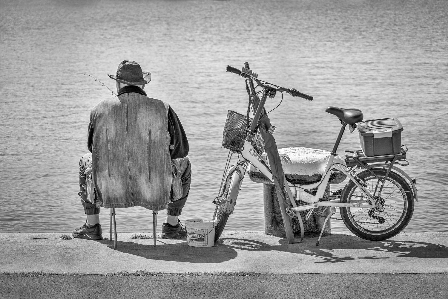
[[[0,273],[448,271],[448,233],[401,233],[385,241],[331,234],[315,246],[317,238],[289,244],[286,238],[262,231],[224,230],[214,247],[190,247],[186,239],[157,239],[157,247],[153,247],[152,238],[131,238],[135,234],[119,232],[117,248],[113,248],[108,238],[64,240],[61,233],[0,233]],[[149,236],[152,232],[137,234]]]

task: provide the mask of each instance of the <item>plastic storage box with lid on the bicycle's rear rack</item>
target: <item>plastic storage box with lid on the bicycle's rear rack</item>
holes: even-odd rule
[[[396,155],[401,152],[401,126],[396,118],[379,118],[358,123],[359,142],[365,156]]]

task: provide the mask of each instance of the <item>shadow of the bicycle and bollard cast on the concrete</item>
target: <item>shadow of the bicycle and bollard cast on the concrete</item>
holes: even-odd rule
[[[350,260],[379,260],[390,259],[391,256],[344,256],[343,250],[357,250],[356,254],[362,250],[388,252],[394,257],[414,257],[414,258],[448,258],[448,247],[435,243],[403,240],[367,241],[351,235],[328,236],[321,239],[320,246],[315,246],[317,238],[305,238],[302,243],[289,244],[286,238],[279,240],[279,245],[270,245],[250,239],[222,238],[216,243],[220,247],[235,248],[248,251],[282,251],[319,258],[316,263],[338,263]],[[371,252],[370,252],[371,253]],[[346,253],[345,253],[346,254]]]

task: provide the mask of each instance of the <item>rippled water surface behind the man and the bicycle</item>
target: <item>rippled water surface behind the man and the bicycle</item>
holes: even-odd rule
[[[175,109],[193,178],[182,219],[210,218],[226,150],[227,109],[244,113],[245,61],[260,78],[314,96],[285,96],[271,114],[278,147],[330,150],[327,106],[398,117],[419,201],[405,231],[447,231],[448,2],[237,0],[0,2],[1,231],[71,231],[84,221],[77,165],[89,111],[123,59],[152,73],[148,95]],[[280,97],[270,100],[274,108]],[[339,153],[359,147],[345,135]],[[101,211],[104,228],[108,211]],[[163,217],[159,217],[161,222]],[[120,231],[150,230],[143,208],[117,210]],[[262,185],[243,182],[230,230],[263,230]],[[333,231],[346,231],[332,221]]]

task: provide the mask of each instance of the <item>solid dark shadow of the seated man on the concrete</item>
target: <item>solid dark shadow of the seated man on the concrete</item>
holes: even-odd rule
[[[182,239],[181,239],[182,240]],[[166,243],[157,239],[157,247],[151,244],[117,241],[117,248],[108,239],[96,242],[106,245],[109,249],[125,254],[140,256],[148,260],[164,260],[174,262],[188,262],[194,264],[222,263],[237,257],[237,251],[232,247],[191,247],[185,242]],[[212,249],[212,251],[210,250]]]

